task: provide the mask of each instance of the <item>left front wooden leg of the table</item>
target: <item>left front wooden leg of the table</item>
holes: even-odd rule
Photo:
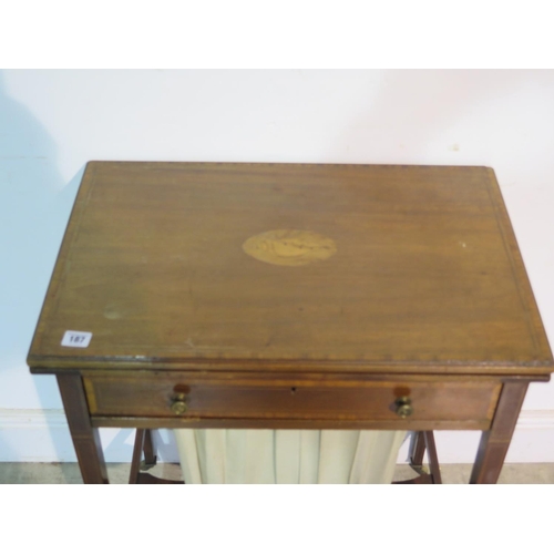
[[[59,375],[58,386],[84,483],[107,484],[99,430],[91,425],[83,381],[78,373]]]

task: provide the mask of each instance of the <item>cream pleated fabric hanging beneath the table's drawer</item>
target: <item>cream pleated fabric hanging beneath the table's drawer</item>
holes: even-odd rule
[[[406,431],[176,429],[187,484],[390,483]]]

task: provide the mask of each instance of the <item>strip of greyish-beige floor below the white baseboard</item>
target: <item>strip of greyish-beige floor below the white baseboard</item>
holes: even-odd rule
[[[111,483],[123,484],[129,481],[129,463],[109,463],[107,475]],[[153,475],[182,480],[178,464],[157,464],[150,470]],[[441,466],[442,480],[445,484],[466,483],[471,473],[470,464],[448,464]],[[416,476],[408,465],[397,465],[394,480],[401,481]],[[76,463],[0,463],[0,484],[8,483],[82,483]],[[541,484],[554,483],[554,464],[519,463],[505,464],[499,483]]]

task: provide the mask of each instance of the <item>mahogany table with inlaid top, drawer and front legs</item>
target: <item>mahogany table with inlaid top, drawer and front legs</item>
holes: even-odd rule
[[[552,352],[486,167],[91,162],[28,363],[98,428],[481,430]],[[429,435],[429,433],[428,433]]]

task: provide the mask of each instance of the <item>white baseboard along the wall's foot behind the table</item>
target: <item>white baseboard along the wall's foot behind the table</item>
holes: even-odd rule
[[[101,429],[106,462],[130,462],[134,430]],[[479,431],[437,431],[441,464],[473,463]],[[156,431],[154,442],[158,460],[178,462],[173,434]],[[398,461],[406,463],[408,441]],[[75,452],[63,410],[0,409],[0,462],[75,462]],[[517,421],[506,463],[554,463],[554,410],[526,410]]]

